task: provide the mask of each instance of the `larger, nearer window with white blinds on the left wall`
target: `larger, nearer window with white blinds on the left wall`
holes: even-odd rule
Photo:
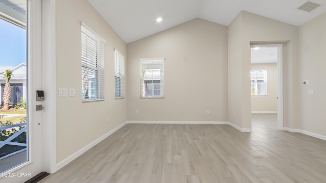
[[[83,102],[104,100],[104,43],[104,39],[82,23]]]

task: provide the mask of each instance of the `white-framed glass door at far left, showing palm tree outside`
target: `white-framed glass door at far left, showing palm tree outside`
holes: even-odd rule
[[[0,182],[24,182],[42,169],[40,17],[40,0],[0,1]]]

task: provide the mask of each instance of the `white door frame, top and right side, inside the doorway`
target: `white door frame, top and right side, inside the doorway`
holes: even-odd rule
[[[277,59],[277,129],[283,128],[283,44],[255,44],[251,43],[250,47],[276,47],[278,49]]]

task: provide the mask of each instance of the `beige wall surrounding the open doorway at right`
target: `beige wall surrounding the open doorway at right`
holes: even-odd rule
[[[283,44],[284,126],[297,127],[297,26],[241,11],[229,26],[229,121],[251,129],[250,45]],[[230,77],[230,72],[240,73]],[[235,91],[236,90],[236,91]]]

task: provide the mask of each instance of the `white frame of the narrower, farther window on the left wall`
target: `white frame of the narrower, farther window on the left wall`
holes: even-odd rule
[[[114,68],[115,68],[115,74],[114,74],[114,83],[115,83],[115,99],[124,99],[125,98],[125,56],[119,52],[117,49],[114,51]],[[119,59],[118,59],[119,58]],[[116,78],[120,78],[120,96],[116,96],[117,94],[117,80]]]

